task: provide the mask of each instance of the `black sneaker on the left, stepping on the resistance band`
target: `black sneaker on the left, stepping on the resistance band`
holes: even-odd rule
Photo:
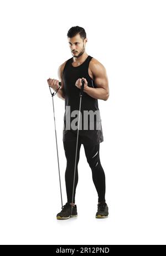
[[[70,217],[76,217],[77,216],[77,205],[75,204],[72,207],[72,213],[71,213],[71,204],[66,203],[63,207],[60,213],[56,215],[56,219],[69,219]]]

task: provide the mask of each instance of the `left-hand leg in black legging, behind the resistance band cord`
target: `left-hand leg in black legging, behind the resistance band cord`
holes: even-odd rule
[[[68,198],[68,203],[71,204],[72,202],[72,189],[73,189],[73,182],[74,182],[74,167],[75,167],[75,153],[76,153],[76,140],[68,142],[64,141],[64,150],[66,155],[66,171],[65,171],[65,183],[66,183],[66,193]],[[73,203],[75,203],[75,192],[76,186],[78,183],[78,169],[77,165],[79,163],[80,158],[80,147],[81,143],[78,142],[77,146],[77,161],[76,161],[76,171],[75,171],[75,186],[74,186],[74,198]]]

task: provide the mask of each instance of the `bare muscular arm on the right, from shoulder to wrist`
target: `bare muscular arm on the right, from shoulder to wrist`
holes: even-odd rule
[[[90,62],[91,63],[91,62]],[[106,101],[109,97],[108,77],[106,68],[96,59],[90,65],[91,72],[94,76],[94,82],[97,88],[91,88],[87,85],[84,92],[92,98],[103,99]]]

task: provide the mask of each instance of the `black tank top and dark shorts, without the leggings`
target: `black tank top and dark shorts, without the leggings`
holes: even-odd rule
[[[65,63],[65,67],[63,70],[63,81],[64,81],[64,93],[65,93],[65,114],[64,114],[64,130],[63,130],[63,141],[73,141],[75,140],[75,136],[77,134],[77,130],[69,129],[66,126],[66,116],[68,115],[68,111],[66,111],[66,107],[70,107],[70,113],[73,111],[79,111],[80,106],[80,89],[75,86],[77,79],[79,78],[86,78],[87,84],[89,87],[96,88],[94,80],[89,76],[88,69],[89,63],[92,57],[88,56],[86,60],[77,67],[72,66],[73,59],[70,58]],[[94,116],[94,121],[88,120],[88,127],[84,129],[84,111],[93,111],[94,113],[97,111],[98,118]],[[81,116],[82,122],[80,119],[80,123],[82,124],[82,129],[79,129],[79,137],[82,144],[99,144],[103,142],[103,133],[102,133],[102,126],[101,126],[101,118],[100,118],[100,111],[98,108],[98,101],[95,98],[92,98],[87,93],[83,92],[82,100],[81,100]],[[69,116],[68,116],[69,117]],[[70,116],[70,123],[76,118],[77,116],[71,117]],[[95,129],[90,128],[91,124],[94,124]],[[98,129],[100,127],[100,129]]]

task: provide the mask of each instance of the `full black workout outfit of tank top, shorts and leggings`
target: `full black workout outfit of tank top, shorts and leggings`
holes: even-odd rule
[[[85,155],[87,162],[92,171],[92,179],[95,184],[95,188],[98,194],[98,202],[105,202],[105,173],[100,163],[100,143],[103,142],[102,127],[98,129],[98,125],[101,125],[100,111],[98,109],[98,101],[95,98],[90,97],[87,93],[83,92],[81,98],[81,115],[82,129],[79,129],[79,141],[77,145],[77,159],[76,159],[76,173],[75,173],[75,184],[74,184],[74,200],[72,201],[72,189],[74,182],[74,167],[75,167],[75,153],[76,153],[76,138],[77,129],[68,129],[66,124],[72,123],[75,116],[70,115],[70,122],[68,123],[68,111],[70,107],[70,114],[73,111],[79,111],[80,107],[80,89],[75,86],[77,79],[86,78],[87,85],[89,87],[96,88],[94,80],[89,76],[88,69],[89,63],[92,57],[88,56],[86,60],[77,67],[72,66],[73,58],[68,59],[65,63],[63,71],[63,82],[64,82],[64,93],[65,93],[65,114],[64,114],[64,130],[63,130],[63,144],[66,155],[66,171],[65,171],[65,183],[66,193],[68,197],[68,203],[75,203],[75,192],[78,182],[78,170],[77,165],[80,157],[81,144],[84,145]],[[84,129],[84,111],[98,112],[98,118],[89,119],[89,126]],[[67,119],[66,119],[67,117]],[[95,117],[95,116],[94,116]],[[94,124],[94,130],[90,128],[90,124]]]

